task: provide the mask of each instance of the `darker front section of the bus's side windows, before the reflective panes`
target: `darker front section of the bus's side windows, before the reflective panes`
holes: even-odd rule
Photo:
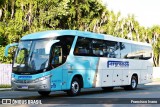
[[[78,37],[75,55],[120,58],[119,43],[99,39]]]

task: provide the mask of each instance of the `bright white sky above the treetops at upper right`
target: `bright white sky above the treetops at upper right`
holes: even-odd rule
[[[121,12],[122,17],[134,14],[144,27],[160,25],[160,0],[102,0],[109,10]]]

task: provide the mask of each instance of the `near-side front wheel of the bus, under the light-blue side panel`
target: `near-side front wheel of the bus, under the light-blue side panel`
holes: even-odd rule
[[[71,88],[67,91],[67,94],[70,96],[76,96],[81,91],[80,80],[78,78],[73,78],[71,82]]]

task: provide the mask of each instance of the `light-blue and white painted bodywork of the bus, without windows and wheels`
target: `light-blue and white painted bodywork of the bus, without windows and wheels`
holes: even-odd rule
[[[130,40],[116,38],[110,35],[95,34],[90,32],[82,32],[75,30],[48,31],[30,34],[24,36],[21,40],[33,40],[52,38],[55,36],[74,35],[74,41],[71,46],[70,53],[64,64],[50,71],[42,72],[34,75],[18,75],[12,73],[12,77],[16,80],[36,80],[38,78],[49,76],[50,82],[47,82],[47,89],[50,91],[68,90],[71,87],[71,81],[75,75],[81,75],[83,78],[83,88],[92,87],[109,87],[109,86],[124,86],[131,83],[133,74],[138,75],[138,84],[145,84],[152,80],[152,61],[151,60],[136,60],[108,57],[92,57],[79,56],[74,54],[78,37],[87,37],[99,40],[110,40],[117,42],[125,42],[130,44],[138,44]],[[142,46],[151,47],[148,44],[139,43]],[[19,83],[16,83],[18,86]],[[20,85],[30,85],[30,83],[20,83]],[[43,84],[43,83],[42,83]],[[41,85],[42,85],[41,84]],[[45,84],[45,83],[44,83]],[[17,86],[13,85],[15,90]],[[40,90],[37,84],[33,90]],[[23,89],[22,89],[23,90]]]

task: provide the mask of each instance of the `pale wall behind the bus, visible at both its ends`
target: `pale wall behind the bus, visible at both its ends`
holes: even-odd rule
[[[11,84],[11,72],[12,72],[11,64],[0,64],[0,85]],[[160,67],[153,68],[153,79],[156,78],[160,78]]]

